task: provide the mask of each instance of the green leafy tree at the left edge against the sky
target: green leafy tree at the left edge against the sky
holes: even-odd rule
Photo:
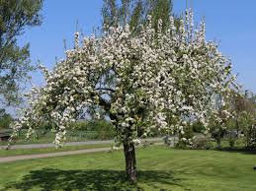
[[[29,43],[20,47],[17,36],[25,28],[42,23],[43,0],[0,0],[0,98],[3,103],[16,103],[21,83],[32,70]]]

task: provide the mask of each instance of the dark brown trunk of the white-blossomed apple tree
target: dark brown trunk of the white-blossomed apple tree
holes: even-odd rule
[[[126,157],[127,179],[131,182],[136,181],[136,158],[135,148],[132,143],[124,144],[124,152]]]

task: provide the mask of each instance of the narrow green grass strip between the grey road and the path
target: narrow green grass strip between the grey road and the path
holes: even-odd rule
[[[40,148],[40,149],[12,149],[12,150],[0,150],[0,158],[22,155],[34,155],[34,154],[48,154],[75,150],[86,150],[94,148],[111,148],[111,144],[95,144],[95,145],[80,145],[80,146],[64,146],[63,148]]]

